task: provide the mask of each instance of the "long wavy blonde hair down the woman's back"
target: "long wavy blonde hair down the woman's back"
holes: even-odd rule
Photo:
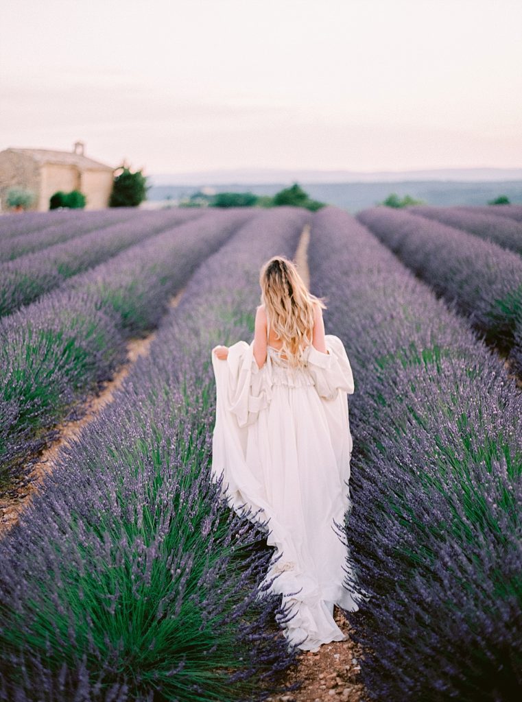
[[[271,326],[281,340],[289,365],[303,366],[304,349],[312,343],[313,305],[325,310],[325,303],[308,291],[295,264],[285,256],[273,256],[261,267],[259,284],[268,329]]]

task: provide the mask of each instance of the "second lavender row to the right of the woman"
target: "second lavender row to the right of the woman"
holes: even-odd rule
[[[522,372],[522,259],[454,227],[374,207],[358,220]]]

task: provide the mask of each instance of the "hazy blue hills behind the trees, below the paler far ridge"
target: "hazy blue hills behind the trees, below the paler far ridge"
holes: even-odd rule
[[[522,173],[522,171],[521,171]],[[154,179],[151,179],[154,183]],[[293,181],[290,181],[293,182]],[[507,195],[513,204],[522,204],[522,175],[514,180],[396,180],[377,183],[318,183],[299,180],[299,184],[313,199],[337,205],[356,213],[372,207],[384,200],[391,192],[400,197],[409,194],[422,199],[427,204],[450,205],[485,205],[498,195]],[[273,195],[289,185],[289,181],[273,183],[224,183],[206,182],[214,192],[254,192],[257,195]],[[200,190],[200,185],[153,185],[148,192],[150,201],[179,199],[189,197]]]

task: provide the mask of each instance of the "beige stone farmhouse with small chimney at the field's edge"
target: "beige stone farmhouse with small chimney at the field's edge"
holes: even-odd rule
[[[49,198],[57,190],[80,190],[86,197],[86,210],[107,207],[115,168],[84,155],[84,143],[77,141],[72,152],[50,149],[0,151],[0,210],[6,211],[7,192],[20,187],[34,192],[32,210],[49,208]]]

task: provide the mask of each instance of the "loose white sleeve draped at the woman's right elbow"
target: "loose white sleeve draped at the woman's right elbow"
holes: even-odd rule
[[[355,385],[344,345],[334,334],[326,334],[325,341],[328,353],[322,353],[313,346],[308,347],[308,371],[315,389],[324,399],[334,399],[339,390],[352,395]]]

